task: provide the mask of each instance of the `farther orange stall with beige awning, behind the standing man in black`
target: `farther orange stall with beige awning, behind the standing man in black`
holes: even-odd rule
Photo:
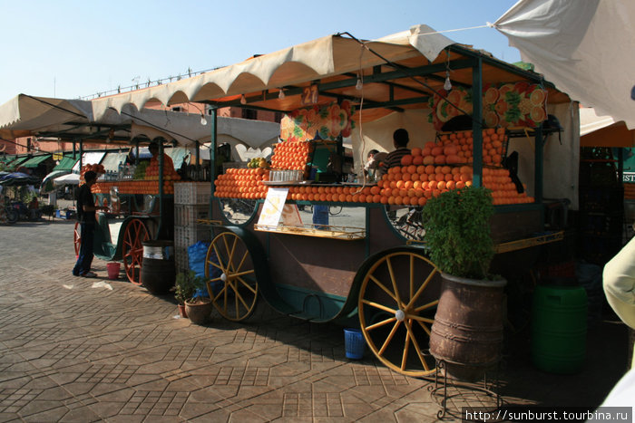
[[[223,120],[227,120],[228,135],[247,145],[249,139],[240,137],[254,131],[271,134],[272,128],[277,127],[270,122],[256,123],[249,124],[250,131],[245,131],[240,124],[234,124],[233,119]],[[211,130],[210,122],[202,120],[199,114],[126,108],[105,111],[96,117],[91,101],[20,94],[0,105],[0,134],[7,139],[23,136],[56,138],[71,141],[79,147],[79,159],[73,166],[73,173],[67,177],[81,183],[86,170],[97,171],[100,179],[93,186],[95,202],[109,206],[108,212],[98,213],[95,255],[107,261],[122,260],[129,281],[142,284],[142,243],[147,240],[171,242],[173,239],[173,184],[181,177],[174,169],[164,167],[170,154],[164,152],[178,151],[174,155],[177,168],[186,154],[196,158],[190,163],[199,166],[199,149],[210,139]],[[151,142],[158,146],[157,159],[144,161],[139,149]],[[94,144],[108,145],[110,150],[125,149],[125,162],[119,151],[84,151],[84,146]],[[183,148],[189,149],[187,153]],[[129,149],[132,149],[132,160],[128,158]],[[114,159],[107,159],[111,154]],[[77,227],[74,244],[77,254],[81,244]],[[161,290],[169,288],[163,286]]]

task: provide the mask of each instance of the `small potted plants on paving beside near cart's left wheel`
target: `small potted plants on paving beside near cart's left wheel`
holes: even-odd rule
[[[174,297],[184,305],[184,314],[192,323],[204,324],[210,318],[211,300],[199,294],[204,292],[207,292],[205,279],[197,276],[194,271],[177,274]]]

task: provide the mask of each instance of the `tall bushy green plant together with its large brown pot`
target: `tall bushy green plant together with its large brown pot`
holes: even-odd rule
[[[442,278],[430,352],[455,379],[478,379],[501,358],[506,282],[490,274],[492,216],[484,187],[445,192],[422,213],[425,245]]]

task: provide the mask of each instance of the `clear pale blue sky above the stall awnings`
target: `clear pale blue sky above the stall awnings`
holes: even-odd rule
[[[516,0],[0,0],[0,104],[64,99],[241,62],[329,34],[375,39],[427,24],[506,62],[491,27]]]

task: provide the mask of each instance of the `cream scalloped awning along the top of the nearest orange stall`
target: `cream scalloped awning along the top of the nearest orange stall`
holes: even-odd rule
[[[364,45],[351,38],[328,35],[178,82],[95,99],[94,113],[99,118],[111,108],[122,111],[125,106],[134,105],[141,110],[148,101],[170,105],[278,90],[318,78],[358,72],[386,64],[385,60],[405,61],[422,54],[429,61],[434,61],[447,45],[453,43],[427,25],[416,25],[409,31],[368,41]],[[369,49],[382,58],[369,53]],[[281,104],[284,105],[284,101]],[[287,110],[293,109],[295,107]]]

